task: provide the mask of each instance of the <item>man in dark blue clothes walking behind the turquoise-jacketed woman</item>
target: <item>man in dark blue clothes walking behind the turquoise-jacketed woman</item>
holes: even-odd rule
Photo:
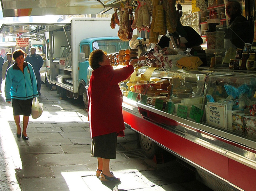
[[[38,95],[41,95],[40,89],[41,89],[41,77],[40,77],[40,68],[43,66],[43,59],[39,54],[36,54],[36,48],[31,47],[30,48],[30,54],[26,56],[25,59],[26,62],[29,62],[36,74],[36,79],[37,79],[37,91]]]

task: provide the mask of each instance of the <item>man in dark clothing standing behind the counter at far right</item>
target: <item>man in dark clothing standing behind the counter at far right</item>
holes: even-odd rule
[[[244,47],[244,43],[251,43],[253,40],[253,23],[249,22],[241,11],[241,5],[237,1],[228,1],[226,4],[226,14],[229,18],[229,26],[225,31],[224,39],[232,43],[234,49]],[[226,42],[225,42],[226,44]],[[227,46],[225,48],[228,48]]]

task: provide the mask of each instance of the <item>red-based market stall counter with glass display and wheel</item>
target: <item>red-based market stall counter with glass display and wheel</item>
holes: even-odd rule
[[[213,190],[215,180],[228,189],[255,189],[254,72],[141,67],[120,89],[124,122],[139,133],[149,158],[157,144],[193,165]]]

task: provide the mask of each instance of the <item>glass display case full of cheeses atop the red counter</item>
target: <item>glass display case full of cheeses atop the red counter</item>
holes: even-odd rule
[[[120,89],[124,102],[138,105],[139,110],[144,108],[158,117],[164,116],[256,149],[255,77],[252,72],[230,70],[142,67],[129,81],[121,82]],[[154,120],[160,127],[168,126]]]

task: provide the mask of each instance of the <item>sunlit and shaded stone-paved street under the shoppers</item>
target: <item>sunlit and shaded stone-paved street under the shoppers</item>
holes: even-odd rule
[[[44,111],[36,120],[30,117],[28,141],[16,137],[11,104],[0,94],[0,191],[210,190],[177,161],[155,164],[146,158],[130,129],[118,137],[117,158],[110,164],[121,183],[101,183],[81,100],[61,100],[45,84],[41,94]]]

